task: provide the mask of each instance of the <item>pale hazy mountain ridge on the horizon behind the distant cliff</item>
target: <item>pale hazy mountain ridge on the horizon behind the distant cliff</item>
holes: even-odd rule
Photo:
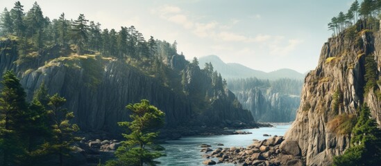
[[[205,63],[211,62],[214,70],[221,73],[222,77],[226,79],[257,77],[258,79],[276,80],[278,78],[286,77],[303,80],[305,77],[304,74],[298,73],[297,71],[291,70],[289,68],[282,68],[277,71],[271,71],[269,73],[264,71],[257,71],[242,64],[225,63],[216,55],[200,57],[198,62],[200,63],[200,68],[204,68]]]

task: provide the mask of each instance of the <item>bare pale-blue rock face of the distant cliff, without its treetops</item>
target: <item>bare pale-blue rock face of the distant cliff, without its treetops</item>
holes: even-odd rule
[[[262,93],[264,91],[264,93]],[[270,89],[254,88],[248,91],[235,91],[244,109],[260,122],[291,122],[295,119],[300,98],[273,92]]]

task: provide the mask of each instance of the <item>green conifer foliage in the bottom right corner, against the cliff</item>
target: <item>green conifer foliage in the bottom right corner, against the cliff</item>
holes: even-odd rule
[[[381,162],[381,130],[371,118],[366,103],[352,130],[350,148],[342,156],[335,156],[333,165],[378,165]]]

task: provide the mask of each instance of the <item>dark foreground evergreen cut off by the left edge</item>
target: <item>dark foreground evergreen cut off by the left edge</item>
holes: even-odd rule
[[[12,71],[6,71],[1,84],[0,162],[4,166],[21,165],[27,143],[23,136],[28,129],[26,93]]]

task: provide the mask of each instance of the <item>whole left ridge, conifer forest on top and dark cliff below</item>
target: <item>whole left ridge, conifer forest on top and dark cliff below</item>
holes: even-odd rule
[[[120,138],[123,129],[117,122],[131,120],[125,106],[142,99],[148,99],[165,113],[161,116],[165,115],[166,129],[180,128],[173,134],[164,133],[164,138],[196,134],[205,127],[257,125],[212,65],[201,69],[196,58],[188,62],[183,53],[178,54],[176,41],[169,43],[152,36],[144,39],[135,26],[101,29],[100,23],[87,20],[83,14],[69,19],[62,13],[57,19],[50,19],[43,15],[37,2],[26,11],[17,1],[13,8],[5,8],[1,13],[0,35],[0,73],[13,75],[19,82],[19,94],[15,98],[26,102],[26,107],[17,109],[17,113],[37,109],[35,117],[49,117],[48,121],[56,122],[38,127],[51,129],[53,133],[62,131],[62,134],[67,129],[67,139],[77,134]],[[2,84],[0,89],[5,91],[6,86]],[[38,92],[41,89],[43,92]],[[41,98],[33,98],[34,94]],[[2,94],[0,98],[6,96]],[[3,106],[1,132],[9,130],[3,125],[10,117],[3,112]],[[67,115],[53,116],[60,111]],[[35,117],[26,115],[26,118]],[[36,122],[45,121],[37,118],[30,127]],[[60,126],[62,129],[58,129]],[[15,141],[24,134],[34,136],[34,133],[15,132]],[[35,147],[30,150],[27,150],[28,144],[20,145],[15,153],[5,156],[10,160],[0,160],[5,165],[24,164],[32,159],[36,163],[42,160],[41,165],[52,162],[71,165],[66,163],[69,162],[66,157],[72,150],[69,145],[76,139],[60,140],[60,136],[54,134],[51,137],[36,138],[37,143],[31,144]],[[58,143],[44,144],[50,140]],[[56,149],[50,151],[48,145]],[[2,157],[12,148],[0,151]],[[17,153],[28,154],[28,158],[19,158]],[[50,155],[58,156],[44,160]]]

